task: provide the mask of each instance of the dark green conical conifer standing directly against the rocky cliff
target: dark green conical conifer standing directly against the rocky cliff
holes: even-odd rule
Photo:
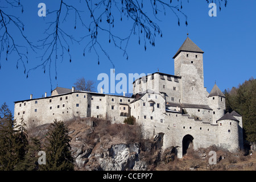
[[[68,137],[68,129],[63,121],[55,121],[50,125],[46,141],[46,165],[40,165],[40,169],[47,171],[73,170],[73,158]]]

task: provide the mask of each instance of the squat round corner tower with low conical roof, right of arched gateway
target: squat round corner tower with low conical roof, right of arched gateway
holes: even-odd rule
[[[238,123],[239,121],[230,113],[226,113],[218,119],[219,146],[227,148],[230,152],[236,152],[240,149]]]

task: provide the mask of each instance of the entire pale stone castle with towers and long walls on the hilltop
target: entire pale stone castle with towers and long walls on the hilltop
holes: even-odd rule
[[[155,137],[163,148],[175,147],[178,158],[189,146],[243,148],[242,117],[225,114],[225,96],[215,84],[204,88],[203,51],[187,37],[174,55],[175,75],[155,72],[133,82],[133,96],[57,87],[51,96],[16,101],[14,119],[30,125],[73,117],[108,118],[123,123],[133,115],[144,138]]]

